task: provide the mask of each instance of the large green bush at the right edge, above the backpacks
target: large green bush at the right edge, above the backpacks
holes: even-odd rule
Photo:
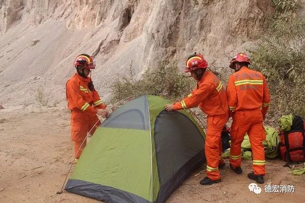
[[[267,79],[271,114],[305,116],[305,21],[275,20],[273,25],[251,51],[251,66]]]

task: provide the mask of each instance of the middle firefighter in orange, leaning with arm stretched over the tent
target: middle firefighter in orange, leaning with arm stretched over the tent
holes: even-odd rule
[[[199,106],[207,114],[207,134],[205,139],[205,156],[207,161],[206,177],[201,185],[219,183],[219,168],[225,166],[222,158],[221,133],[229,119],[226,91],[216,75],[206,70],[207,62],[200,54],[191,55],[186,60],[187,69],[197,81],[197,88],[178,103],[165,106],[167,111],[177,111]]]

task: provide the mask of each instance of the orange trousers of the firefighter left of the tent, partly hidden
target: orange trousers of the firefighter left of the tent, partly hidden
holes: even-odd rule
[[[79,159],[80,154],[87,144],[87,133],[93,135],[101,124],[96,114],[88,114],[82,111],[71,113],[71,141],[74,143],[74,156]]]

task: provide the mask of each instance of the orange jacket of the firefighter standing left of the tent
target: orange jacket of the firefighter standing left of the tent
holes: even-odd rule
[[[89,82],[89,77],[83,78],[77,73],[68,80],[66,84],[66,97],[70,110],[96,114],[98,109],[106,109],[98,92],[96,90],[89,90]]]

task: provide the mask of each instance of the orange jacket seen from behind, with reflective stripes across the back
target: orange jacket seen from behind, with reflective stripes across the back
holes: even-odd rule
[[[265,117],[270,106],[270,94],[264,75],[247,67],[229,78],[227,98],[231,111],[261,109]]]

